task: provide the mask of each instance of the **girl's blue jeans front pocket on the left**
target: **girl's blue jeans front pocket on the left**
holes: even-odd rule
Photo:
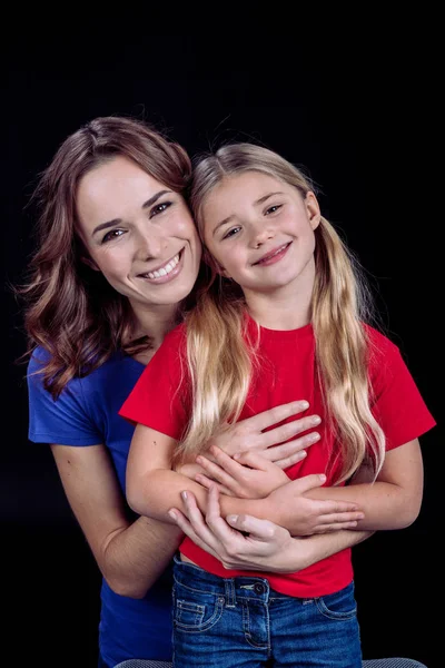
[[[174,586],[174,625],[175,628],[190,633],[206,631],[221,617],[225,599],[215,593]]]

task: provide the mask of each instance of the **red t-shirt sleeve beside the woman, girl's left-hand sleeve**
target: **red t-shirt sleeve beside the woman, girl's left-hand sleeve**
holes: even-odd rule
[[[165,337],[119,415],[180,441],[189,419],[189,379],[186,336],[180,325]]]

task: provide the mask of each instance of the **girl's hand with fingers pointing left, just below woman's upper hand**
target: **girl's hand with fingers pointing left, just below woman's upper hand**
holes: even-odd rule
[[[238,499],[264,499],[278,487],[289,482],[286,473],[276,464],[253,450],[234,458],[216,445],[210,446],[212,460],[199,455],[197,464],[205,473],[195,475],[196,482]]]

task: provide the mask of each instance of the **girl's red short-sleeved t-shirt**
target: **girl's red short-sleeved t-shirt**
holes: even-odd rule
[[[380,424],[386,449],[403,445],[435,425],[396,345],[373,327],[366,326],[369,346],[369,384],[373,414]],[[257,325],[249,318],[253,340]],[[312,325],[293,331],[260,327],[260,360],[250,384],[240,420],[296,400],[309,402],[309,414],[325,414],[315,365],[315,337]],[[119,414],[180,441],[191,406],[190,376],[186,361],[186,330],[171,331],[145,369]],[[304,414],[304,413],[303,413]],[[303,416],[301,414],[301,416]],[[289,419],[290,420],[290,419]],[[334,471],[327,470],[329,452],[336,446],[327,420],[317,426],[320,440],[308,448],[307,456],[286,470],[295,480],[309,473],[326,473],[326,487]],[[339,445],[337,445],[339,448]],[[227,570],[221,562],[186,538],[182,554],[202,569],[222,578],[258,576],[270,587],[295,597],[325,596],[353,580],[350,549],[343,550],[296,573],[267,573]]]

